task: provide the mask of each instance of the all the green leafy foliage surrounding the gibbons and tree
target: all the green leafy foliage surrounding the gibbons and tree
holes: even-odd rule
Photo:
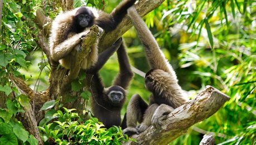
[[[120,1],[74,1],[74,7],[96,6],[110,12]],[[49,87],[48,61],[36,44],[39,29],[34,18],[39,6],[50,18],[61,11],[56,1],[3,1],[0,33],[0,144],[37,144],[35,137],[29,135],[16,119],[17,114],[31,107],[30,100],[18,93],[9,77],[21,77],[39,91]],[[167,0],[144,17],[176,70],[183,89],[194,96],[198,90],[210,84],[231,97],[214,116],[196,124],[170,144],[198,144],[202,134],[206,133],[215,135],[216,144],[255,144],[255,8],[254,1],[246,0]],[[147,72],[149,66],[145,65],[143,46],[134,29],[125,33],[124,38],[129,47],[127,52],[132,66]],[[116,66],[117,57],[114,55],[100,72],[107,86],[111,85],[118,72]],[[88,100],[91,94],[81,91],[85,77],[80,76],[72,82],[72,88]],[[135,74],[132,80],[126,104],[135,93],[146,100],[150,96],[144,88],[144,78],[139,74]],[[72,102],[74,98],[68,96],[65,101]],[[45,118],[40,122],[44,141],[88,144],[96,141],[110,144],[126,141],[127,138],[121,136],[120,128],[101,128],[103,125],[93,118],[83,122],[73,110],[62,109],[64,113],[56,111],[53,107],[57,102],[48,102],[41,109],[47,109]],[[125,111],[126,107],[122,109],[122,114]]]

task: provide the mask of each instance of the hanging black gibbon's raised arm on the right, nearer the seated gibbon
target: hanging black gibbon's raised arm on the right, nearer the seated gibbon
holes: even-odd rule
[[[120,48],[118,48],[116,53],[120,71],[115,80],[113,81],[113,85],[121,86],[122,88],[127,89],[132,77],[134,76],[134,73],[132,73],[131,70],[129,58],[125,51],[124,42],[121,44]]]

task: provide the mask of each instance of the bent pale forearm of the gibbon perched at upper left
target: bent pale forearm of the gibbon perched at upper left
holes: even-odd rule
[[[52,46],[54,47],[54,49],[51,49],[51,51],[53,51],[51,52],[51,57],[54,59],[54,61],[58,62],[60,59],[68,56],[73,48],[82,41],[80,37],[86,36],[87,33],[88,32],[81,32],[78,34],[74,34],[74,36],[66,39],[57,46]]]

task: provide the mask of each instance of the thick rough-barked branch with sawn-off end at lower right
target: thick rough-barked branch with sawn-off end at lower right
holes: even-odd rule
[[[212,116],[229,99],[229,96],[219,90],[207,86],[192,101],[171,112],[168,119],[162,122],[161,129],[155,129],[151,126],[143,133],[132,137],[138,143],[126,142],[124,144],[168,144],[186,133],[193,124]]]

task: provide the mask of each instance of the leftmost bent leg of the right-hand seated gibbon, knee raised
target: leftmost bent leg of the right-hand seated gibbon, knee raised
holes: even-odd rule
[[[139,94],[134,94],[131,97],[126,111],[127,128],[124,129],[123,134],[130,136],[131,134],[138,133],[136,129],[137,122],[141,123],[143,121],[143,114],[147,108],[148,104]]]

